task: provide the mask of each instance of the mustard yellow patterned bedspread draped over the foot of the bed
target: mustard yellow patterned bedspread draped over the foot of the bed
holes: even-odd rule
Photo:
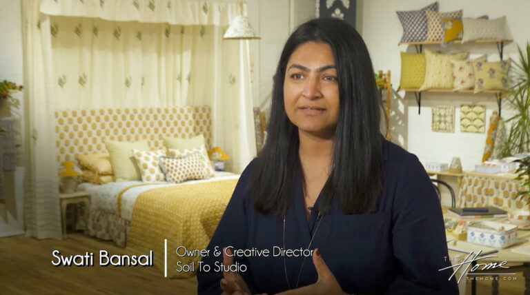
[[[237,179],[193,185],[157,187],[139,194],[127,238],[128,254],[149,254],[164,275],[164,239],[167,239],[168,278],[195,275],[200,256],[177,256],[184,246],[188,251],[206,249],[215,232]],[[195,269],[184,267],[192,265]]]

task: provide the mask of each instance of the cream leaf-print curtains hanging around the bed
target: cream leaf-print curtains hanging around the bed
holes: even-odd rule
[[[23,0],[22,5],[35,9],[35,2]],[[228,170],[241,172],[251,161],[255,143],[248,41],[222,39],[230,21],[241,13],[237,3],[41,0],[39,9],[41,13],[32,21],[27,17],[26,23],[33,22],[28,26],[40,37],[33,39],[39,47],[30,50],[47,52],[37,61],[46,65],[39,81],[46,95],[30,92],[30,108],[45,106],[42,110],[52,114],[58,109],[209,105],[212,143],[231,157]],[[29,46],[26,43],[25,49]],[[34,119],[34,127],[40,127],[41,119]],[[46,126],[53,125],[52,119],[46,119]],[[50,149],[55,148],[53,130],[39,132],[39,140]],[[52,175],[57,165],[41,165],[36,152],[26,157],[36,160],[32,171],[48,170],[44,175],[49,175],[55,193],[58,180]],[[28,203],[41,197],[49,200],[50,194],[36,193]],[[36,216],[27,212],[28,218]],[[60,234],[60,225],[58,230]]]

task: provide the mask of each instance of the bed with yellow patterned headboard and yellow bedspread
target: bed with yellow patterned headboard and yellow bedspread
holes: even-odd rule
[[[59,162],[104,151],[106,140],[148,140],[151,150],[159,150],[164,147],[164,137],[187,139],[202,134],[207,149],[210,148],[211,119],[206,106],[72,110],[56,112],[55,117]],[[173,266],[190,265],[200,257],[179,257],[175,250],[179,246],[188,250],[206,248],[237,179],[237,174],[215,172],[210,179],[176,184],[81,183],[77,190],[91,195],[86,224],[90,236],[115,241],[130,254],[148,254],[153,250],[153,262],[161,270],[166,240],[168,277],[179,278],[193,276],[194,272],[177,272]]]

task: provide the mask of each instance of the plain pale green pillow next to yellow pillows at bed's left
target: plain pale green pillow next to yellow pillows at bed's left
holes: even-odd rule
[[[105,141],[116,181],[139,181],[141,172],[133,150],[149,150],[147,141]]]

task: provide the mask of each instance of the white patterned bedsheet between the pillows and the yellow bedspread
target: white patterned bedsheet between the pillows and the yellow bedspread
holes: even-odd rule
[[[239,174],[230,172],[215,172],[215,176],[210,179],[202,179],[198,181],[184,181],[184,183],[157,183],[152,185],[139,185],[131,187],[121,194],[120,208],[118,214],[118,194],[130,185],[141,184],[141,181],[123,181],[119,183],[106,183],[104,185],[96,185],[94,183],[81,183],[77,185],[77,190],[81,192],[90,192],[90,206],[105,212],[117,214],[121,218],[131,221],[133,218],[133,207],[136,198],[142,192],[153,189],[155,187],[168,185],[192,185],[194,183],[204,183],[209,181],[221,181],[226,179],[238,179]]]

